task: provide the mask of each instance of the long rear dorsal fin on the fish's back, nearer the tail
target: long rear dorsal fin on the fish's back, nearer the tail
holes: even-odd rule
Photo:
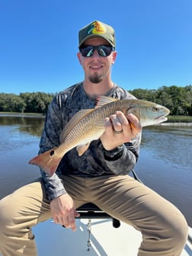
[[[66,136],[71,132],[72,128],[75,127],[75,125],[82,120],[86,115],[91,113],[94,109],[83,109],[79,110],[66,124],[64,129],[62,130],[62,133],[60,135],[60,142],[63,142]]]

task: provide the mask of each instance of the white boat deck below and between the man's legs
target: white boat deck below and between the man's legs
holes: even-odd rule
[[[38,256],[136,256],[141,234],[121,222],[115,229],[110,219],[91,220],[91,247],[88,251],[88,219],[76,219],[77,231],[64,229],[51,220],[34,227]],[[189,228],[192,237],[192,229]],[[192,256],[192,245],[185,245],[181,256]]]

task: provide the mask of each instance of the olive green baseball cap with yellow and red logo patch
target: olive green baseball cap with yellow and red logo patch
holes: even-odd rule
[[[101,21],[93,21],[78,32],[78,48],[91,37],[102,37],[115,47],[114,28]]]

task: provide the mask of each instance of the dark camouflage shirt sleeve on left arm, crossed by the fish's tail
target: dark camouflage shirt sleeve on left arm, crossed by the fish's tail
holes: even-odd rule
[[[62,131],[62,117],[59,110],[59,104],[56,103],[56,98],[53,99],[46,114],[46,120],[42,136],[40,138],[40,150],[39,154],[52,149],[55,146],[59,146],[59,136]],[[58,171],[49,177],[46,172],[40,169],[43,184],[46,187],[46,194],[51,201],[62,194],[66,194],[66,189],[59,178]]]

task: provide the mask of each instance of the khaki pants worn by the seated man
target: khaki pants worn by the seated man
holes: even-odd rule
[[[63,180],[77,208],[86,202],[95,203],[111,216],[142,232],[139,256],[181,254],[188,231],[184,216],[144,184],[128,175],[64,176]],[[0,200],[2,255],[37,255],[31,227],[50,218],[50,205],[41,179]]]

